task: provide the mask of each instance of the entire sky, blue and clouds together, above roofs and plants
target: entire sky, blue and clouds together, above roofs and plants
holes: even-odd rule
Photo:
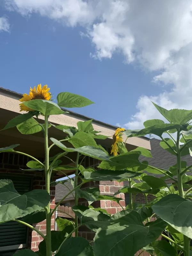
[[[55,98],[80,94],[96,104],[72,111],[131,129],[158,118],[150,100],[191,108],[183,100],[192,91],[190,4],[3,0],[0,86],[28,93],[41,83]]]

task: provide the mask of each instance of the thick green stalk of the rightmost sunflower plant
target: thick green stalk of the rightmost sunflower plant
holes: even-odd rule
[[[183,198],[185,198],[185,195],[183,193],[183,184],[182,184],[182,172],[181,172],[181,150],[184,148],[180,148],[180,129],[177,130],[177,180],[178,180],[178,191],[179,195]],[[184,237],[184,255],[189,256],[190,255],[190,240],[187,236]]]

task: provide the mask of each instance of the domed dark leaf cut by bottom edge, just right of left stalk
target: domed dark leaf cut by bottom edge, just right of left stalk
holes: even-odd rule
[[[93,256],[90,243],[83,237],[71,237],[60,247],[56,256]]]

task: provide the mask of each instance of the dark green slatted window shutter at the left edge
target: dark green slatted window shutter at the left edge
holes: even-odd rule
[[[31,190],[31,178],[28,176],[4,176],[0,179],[12,180],[15,189],[24,194]],[[28,244],[28,228],[18,222],[9,221],[0,225],[0,256],[12,255],[17,245]],[[10,254],[11,253],[11,254]]]

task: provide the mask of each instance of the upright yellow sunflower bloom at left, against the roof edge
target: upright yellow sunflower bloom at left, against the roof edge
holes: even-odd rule
[[[30,87],[30,92],[29,94],[24,93],[23,98],[20,99],[21,102],[29,101],[29,100],[50,100],[51,99],[51,92],[49,92],[50,88],[47,88],[47,84],[44,85],[41,88],[41,84],[37,85],[37,90],[36,87],[32,89]],[[20,111],[34,111],[31,108],[28,108],[25,106],[23,103],[20,103]]]

